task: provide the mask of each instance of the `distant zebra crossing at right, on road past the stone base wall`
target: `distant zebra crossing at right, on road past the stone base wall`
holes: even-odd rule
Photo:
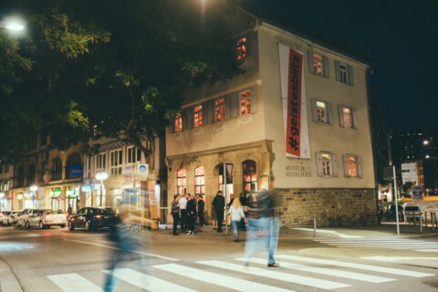
[[[320,238],[315,241],[336,247],[410,249],[421,252],[438,252],[438,242],[411,238]]]

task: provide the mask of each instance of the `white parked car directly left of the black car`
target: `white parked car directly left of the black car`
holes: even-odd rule
[[[67,223],[67,216],[62,210],[38,209],[28,216],[25,226],[27,229],[30,227],[50,228],[54,225],[64,228]]]

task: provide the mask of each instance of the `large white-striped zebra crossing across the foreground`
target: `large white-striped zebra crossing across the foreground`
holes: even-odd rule
[[[281,266],[266,267],[266,258],[166,262],[114,271],[116,291],[252,291],[286,292],[313,289],[345,289],[359,285],[391,285],[405,278],[434,277],[427,269],[406,269],[301,255],[277,255]],[[48,275],[51,285],[66,292],[101,292],[108,270]],[[93,276],[94,275],[94,276]],[[99,276],[96,276],[99,275]],[[205,284],[208,289],[205,289]],[[48,288],[48,287],[47,287]],[[56,290],[48,288],[48,290]]]

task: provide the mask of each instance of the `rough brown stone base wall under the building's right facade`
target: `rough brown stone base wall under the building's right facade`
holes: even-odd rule
[[[374,189],[276,189],[284,227],[377,225]]]

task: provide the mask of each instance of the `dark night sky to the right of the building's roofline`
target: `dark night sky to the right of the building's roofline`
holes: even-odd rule
[[[370,97],[391,130],[438,130],[438,1],[250,2],[279,24],[370,64]]]

